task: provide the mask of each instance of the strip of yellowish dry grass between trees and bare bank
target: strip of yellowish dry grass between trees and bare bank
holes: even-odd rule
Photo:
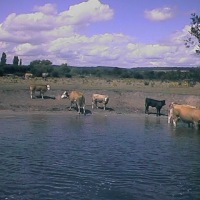
[[[150,81],[145,85],[145,80],[136,79],[103,79],[103,78],[33,78],[24,80],[22,78],[0,77],[0,89],[13,88],[27,89],[32,83],[51,85],[51,88],[59,90],[117,90],[117,91],[140,91],[140,92],[162,92],[167,94],[200,95],[200,84],[194,87],[179,85],[176,82]]]

